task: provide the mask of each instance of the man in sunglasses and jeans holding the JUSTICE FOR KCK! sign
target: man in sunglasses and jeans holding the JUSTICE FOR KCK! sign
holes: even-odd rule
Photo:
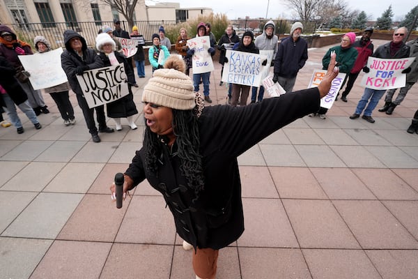
[[[384,58],[384,59],[396,59],[396,58],[406,58],[409,57],[410,54],[410,47],[408,45],[405,45],[403,43],[403,38],[405,36],[405,33],[407,33],[408,29],[406,27],[399,27],[398,29],[395,29],[392,40],[389,43],[385,43],[385,45],[380,45],[376,49],[375,52],[371,55],[371,57],[377,57],[377,58]],[[410,68],[409,68],[410,70]],[[408,69],[405,69],[402,71],[402,73],[407,73],[409,71]],[[363,68],[364,73],[369,73],[370,68],[368,66],[365,66]],[[387,74],[387,71],[382,72],[381,74]],[[350,119],[357,119],[359,118],[360,114],[362,114],[364,108],[364,114],[362,116],[362,119],[366,120],[369,123],[375,123],[375,120],[373,117],[371,117],[371,113],[376,108],[376,106],[379,103],[380,98],[382,98],[383,94],[385,94],[385,89],[371,89],[369,87],[366,87],[364,89],[364,93],[362,98],[359,100],[359,103],[357,104],[357,107],[355,109],[355,112],[353,115],[350,116]],[[369,105],[367,105],[369,103]],[[367,107],[366,107],[367,105]],[[389,109],[390,103],[385,103],[385,107],[382,109]]]

